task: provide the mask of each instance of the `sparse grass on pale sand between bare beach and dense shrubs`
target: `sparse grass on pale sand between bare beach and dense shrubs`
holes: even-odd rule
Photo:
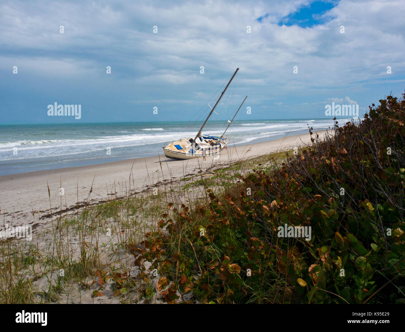
[[[90,204],[91,189],[84,207],[74,214],[52,213],[48,227],[37,231],[31,242],[0,241],[0,302],[161,302],[156,277],[153,272],[139,275],[128,245],[141,243],[145,233],[156,230],[169,202],[192,208],[209,202],[208,188],[236,193],[240,176],[252,169],[269,170],[274,159],[285,156],[277,152],[208,171],[200,167],[196,174],[160,186],[149,179],[141,193],[129,186],[122,198],[98,205]]]

